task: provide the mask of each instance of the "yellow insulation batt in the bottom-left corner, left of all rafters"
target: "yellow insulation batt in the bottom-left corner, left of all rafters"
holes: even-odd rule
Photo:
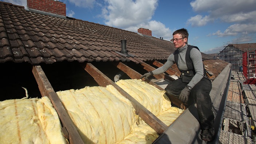
[[[0,101],[0,144],[65,144],[48,97]]]

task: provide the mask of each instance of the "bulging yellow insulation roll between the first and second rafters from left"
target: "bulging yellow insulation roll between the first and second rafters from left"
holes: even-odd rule
[[[57,95],[85,143],[113,144],[136,126],[131,102],[112,85],[59,91]]]

